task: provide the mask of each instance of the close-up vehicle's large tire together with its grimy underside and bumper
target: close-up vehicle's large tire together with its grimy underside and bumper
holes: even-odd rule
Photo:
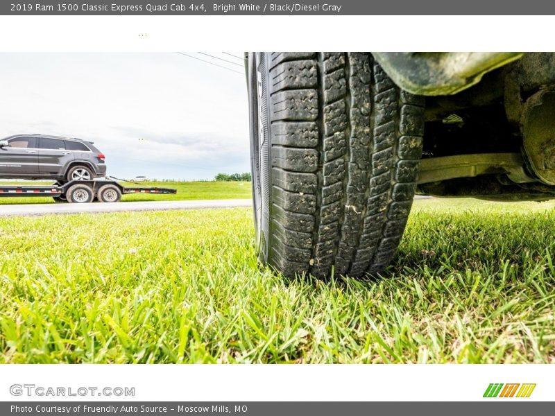
[[[554,53],[248,53],[256,243],[286,276],[383,270],[414,193],[555,196]]]

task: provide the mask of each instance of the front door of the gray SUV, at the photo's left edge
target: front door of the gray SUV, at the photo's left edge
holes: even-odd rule
[[[0,175],[26,177],[38,173],[38,149],[35,137],[8,139],[9,146],[0,147]]]

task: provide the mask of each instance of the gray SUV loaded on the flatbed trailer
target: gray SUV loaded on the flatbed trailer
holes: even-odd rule
[[[0,140],[0,177],[90,180],[106,174],[104,155],[92,142],[48,135]]]

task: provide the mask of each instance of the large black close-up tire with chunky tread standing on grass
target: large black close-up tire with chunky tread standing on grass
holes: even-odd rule
[[[250,53],[256,248],[286,277],[384,270],[412,205],[422,97],[370,53]]]

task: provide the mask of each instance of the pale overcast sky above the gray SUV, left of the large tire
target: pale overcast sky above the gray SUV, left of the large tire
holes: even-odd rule
[[[94,141],[116,177],[212,179],[250,169],[244,75],[178,53],[0,53],[0,94],[0,137]]]

